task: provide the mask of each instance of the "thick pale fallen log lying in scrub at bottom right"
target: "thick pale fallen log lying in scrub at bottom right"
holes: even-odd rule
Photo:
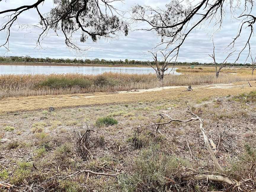
[[[228,185],[236,185],[236,182],[231,180],[230,178],[219,176],[219,175],[193,175],[193,176],[183,178],[183,180],[191,180],[191,179],[217,181],[217,182],[227,183]]]

